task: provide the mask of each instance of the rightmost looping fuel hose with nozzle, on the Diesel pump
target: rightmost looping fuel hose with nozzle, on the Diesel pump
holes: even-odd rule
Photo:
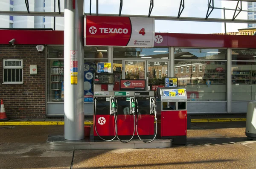
[[[138,110],[139,110],[139,103],[138,103],[138,99],[135,98],[135,101],[136,101],[136,104],[137,104],[137,121],[136,121],[136,131],[137,131],[137,135],[138,135],[138,138],[143,141],[144,143],[151,143],[152,141],[154,141],[154,139],[156,138],[157,136],[157,111],[156,111],[156,107],[157,105],[155,104],[155,101],[154,101],[154,98],[150,98],[150,114],[151,115],[154,115],[155,117],[155,124],[156,124],[156,132],[155,132],[155,135],[154,135],[154,138],[150,141],[145,141],[143,139],[141,139],[140,137],[140,134],[138,132]]]

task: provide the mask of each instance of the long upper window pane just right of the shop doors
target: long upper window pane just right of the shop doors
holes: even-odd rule
[[[175,48],[175,59],[226,60],[226,49]]]

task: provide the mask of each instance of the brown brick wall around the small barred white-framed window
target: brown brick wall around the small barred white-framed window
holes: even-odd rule
[[[45,49],[35,46],[0,45],[0,99],[11,119],[45,118]],[[23,59],[23,84],[2,84],[3,59]],[[37,65],[38,74],[30,74],[29,65]]]

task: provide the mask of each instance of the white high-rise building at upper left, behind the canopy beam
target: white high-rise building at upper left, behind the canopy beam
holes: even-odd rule
[[[58,0],[29,0],[29,11],[58,12]],[[0,0],[0,11],[27,11],[24,0]],[[61,0],[64,12],[64,0]],[[54,28],[54,17],[0,16],[0,28]],[[55,17],[55,30],[64,30],[64,17]]]

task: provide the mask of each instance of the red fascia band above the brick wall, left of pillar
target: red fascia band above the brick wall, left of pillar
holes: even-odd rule
[[[11,39],[22,45],[64,44],[64,31],[0,30],[0,35],[0,44],[9,44]]]

